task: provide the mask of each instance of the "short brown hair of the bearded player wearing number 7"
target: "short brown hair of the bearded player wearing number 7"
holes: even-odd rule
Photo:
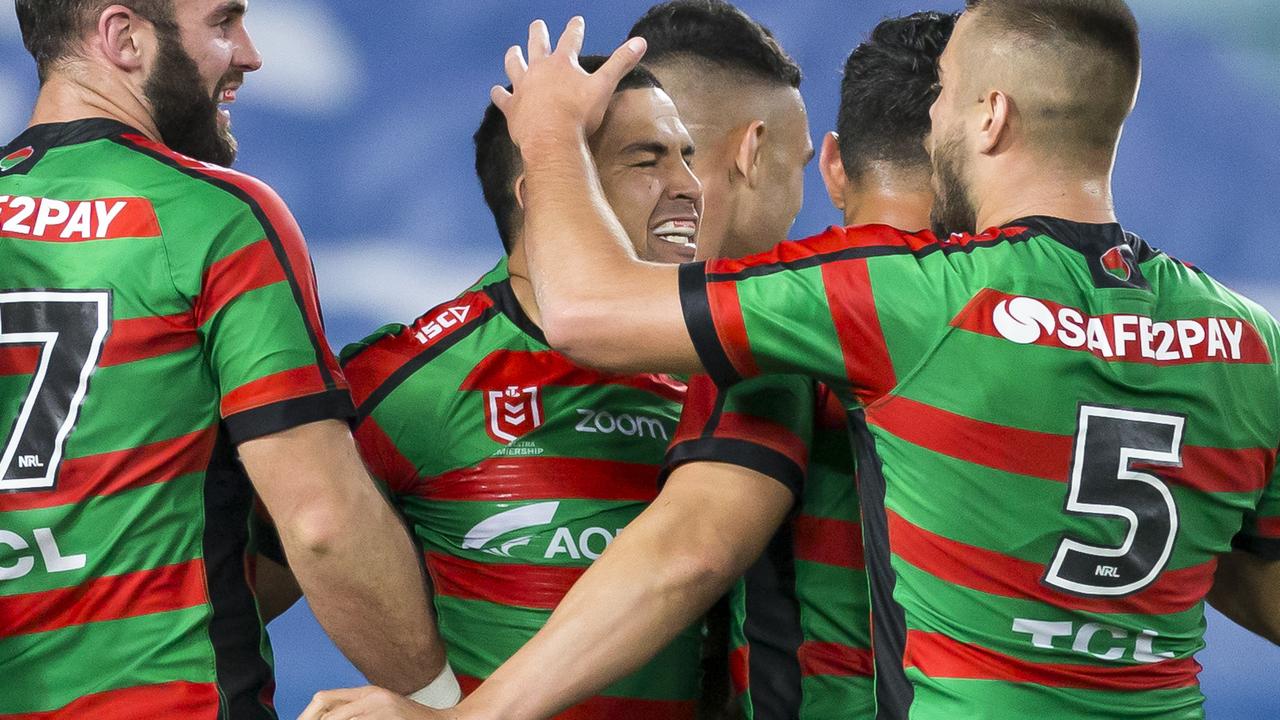
[[[72,56],[77,44],[91,33],[99,15],[111,5],[124,5],[161,29],[177,31],[173,0],[15,0],[22,44],[36,59],[40,82],[58,63]]]

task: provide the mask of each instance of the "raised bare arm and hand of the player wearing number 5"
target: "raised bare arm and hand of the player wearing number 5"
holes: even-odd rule
[[[570,22],[554,55],[547,26],[534,23],[530,68],[512,49],[515,95],[495,88],[494,96],[525,160],[524,237],[543,329],[557,350],[596,368],[700,372],[676,268],[635,258],[586,145],[613,88],[639,63],[643,41],[590,76],[576,61],[581,45],[581,18]]]

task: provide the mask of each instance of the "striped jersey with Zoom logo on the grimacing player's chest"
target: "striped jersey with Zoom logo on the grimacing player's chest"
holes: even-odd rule
[[[425,552],[449,662],[470,692],[657,496],[685,386],[602,375],[550,350],[506,260],[343,363],[356,439]],[[691,719],[700,652],[690,628],[559,717]]]

